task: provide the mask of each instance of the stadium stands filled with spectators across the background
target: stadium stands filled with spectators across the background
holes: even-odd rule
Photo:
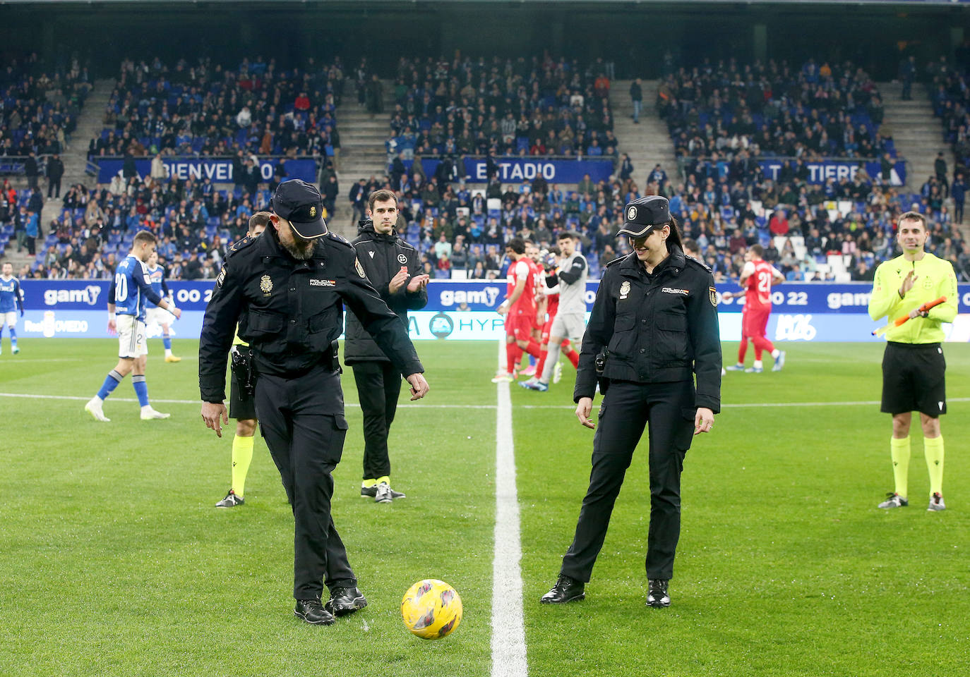
[[[625,203],[664,195],[719,281],[736,277],[744,249],[754,243],[791,280],[871,279],[874,262],[892,250],[895,217],[911,208],[930,218],[929,249],[954,262],[961,279],[970,279],[950,202],[932,188],[908,193],[889,184],[889,172],[870,176],[863,169],[852,180],[808,182],[805,163],[816,158],[882,156],[884,165],[893,159],[892,140],[880,127],[878,88],[850,63],[809,60],[794,69],[708,61],[674,69],[657,89],[657,110],[678,152],[677,167],[667,168],[672,175],[658,166],[637,182],[615,165],[614,176],[598,183],[561,186],[537,178],[503,185],[497,177],[466,183],[466,153],[580,157],[594,138],[602,138],[609,139],[604,152],[617,158],[623,148],[612,137],[610,80],[599,66],[549,57],[400,61],[391,115],[395,136],[387,142],[395,162],[366,181],[363,191],[398,192],[407,224],[401,234],[418,247],[430,274],[497,277],[510,237],[531,237],[549,247],[560,231],[570,230],[579,232],[596,277],[605,262],[628,251],[614,236]],[[126,61],[121,75],[109,107],[113,129],[92,139],[91,152],[231,150],[243,163],[246,154],[260,150],[254,144],[262,144],[267,131],[274,153],[319,150],[310,139],[326,138],[322,120],[336,125],[336,108],[328,107],[338,101],[343,81],[339,62],[277,74],[272,61],[259,58],[232,72],[210,61],[191,68],[179,62],[171,70],[158,60]],[[376,114],[380,82],[371,75],[355,74],[357,92],[361,105]],[[299,101],[306,92],[307,102]],[[235,118],[253,101],[241,127]],[[308,126],[277,127],[287,115]],[[176,134],[177,127],[183,134]],[[235,136],[223,134],[230,127]],[[279,129],[286,133],[273,134]],[[287,145],[294,138],[296,146]],[[442,161],[434,174],[415,162],[422,157]],[[758,162],[765,157],[784,159],[775,179]],[[278,178],[232,185],[119,175],[93,189],[76,184],[67,190],[59,217],[43,226],[43,244],[21,275],[108,276],[134,232],[147,228],[159,236],[170,279],[214,277],[227,244],[242,234],[252,211],[268,204]],[[23,193],[29,191],[5,197],[4,244],[21,228],[18,206],[29,199]]]

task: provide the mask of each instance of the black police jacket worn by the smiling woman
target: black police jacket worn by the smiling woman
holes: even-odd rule
[[[710,269],[671,247],[647,274],[636,253],[609,262],[599,282],[573,400],[593,397],[596,355],[608,350],[602,376],[641,384],[693,380],[695,407],[721,411],[721,332]]]

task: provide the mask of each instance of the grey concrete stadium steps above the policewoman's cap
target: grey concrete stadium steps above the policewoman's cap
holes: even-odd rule
[[[657,88],[659,80],[642,80],[643,108],[640,109],[640,124],[633,124],[633,102],[630,101],[632,80],[613,80],[609,90],[610,108],[613,110],[613,133],[620,141],[617,149],[620,154],[627,153],[633,163],[633,180],[640,192],[647,186],[647,175],[654,165],[661,164],[671,183],[676,185],[683,179],[677,174],[677,160],[673,152],[673,142],[666,125],[657,114]],[[617,169],[619,173],[619,168]]]

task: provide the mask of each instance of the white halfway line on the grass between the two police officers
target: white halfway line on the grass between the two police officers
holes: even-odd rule
[[[499,363],[504,358],[499,344]],[[503,368],[503,367],[500,367]],[[522,543],[519,493],[515,487],[512,398],[499,384],[495,422],[495,560],[492,562],[492,677],[527,677],[526,630],[522,611]]]

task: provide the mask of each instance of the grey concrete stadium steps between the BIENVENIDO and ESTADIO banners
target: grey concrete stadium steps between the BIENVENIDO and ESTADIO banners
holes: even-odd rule
[[[384,143],[391,138],[391,113],[394,111],[394,81],[381,80],[384,85],[384,112],[372,114],[357,103],[355,93],[348,92],[337,108],[340,133],[337,167],[340,194],[337,214],[331,222],[333,230],[347,239],[357,236],[356,224],[350,223],[347,196],[357,179],[380,177],[387,173],[387,151]]]

